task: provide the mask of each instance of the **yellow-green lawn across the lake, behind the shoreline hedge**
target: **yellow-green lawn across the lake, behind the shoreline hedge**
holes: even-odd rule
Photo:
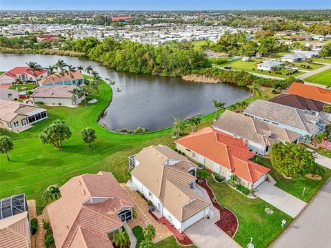
[[[264,59],[252,59],[249,62],[244,62],[244,61],[241,61],[241,59],[238,59],[236,61],[230,61],[228,63],[223,63],[222,65],[217,65],[217,66],[221,66],[221,67],[231,66],[232,69],[235,69],[235,70],[243,70],[245,72],[254,72],[254,73],[258,73],[258,74],[278,76],[278,77],[281,77],[281,78],[285,78],[286,76],[288,76],[288,75],[276,74],[274,72],[271,72],[271,73],[266,72],[266,71],[259,72],[257,70],[257,65],[256,64],[261,63],[263,60]],[[303,74],[303,72],[295,72],[294,74],[292,74],[292,76],[299,76],[300,74]]]

